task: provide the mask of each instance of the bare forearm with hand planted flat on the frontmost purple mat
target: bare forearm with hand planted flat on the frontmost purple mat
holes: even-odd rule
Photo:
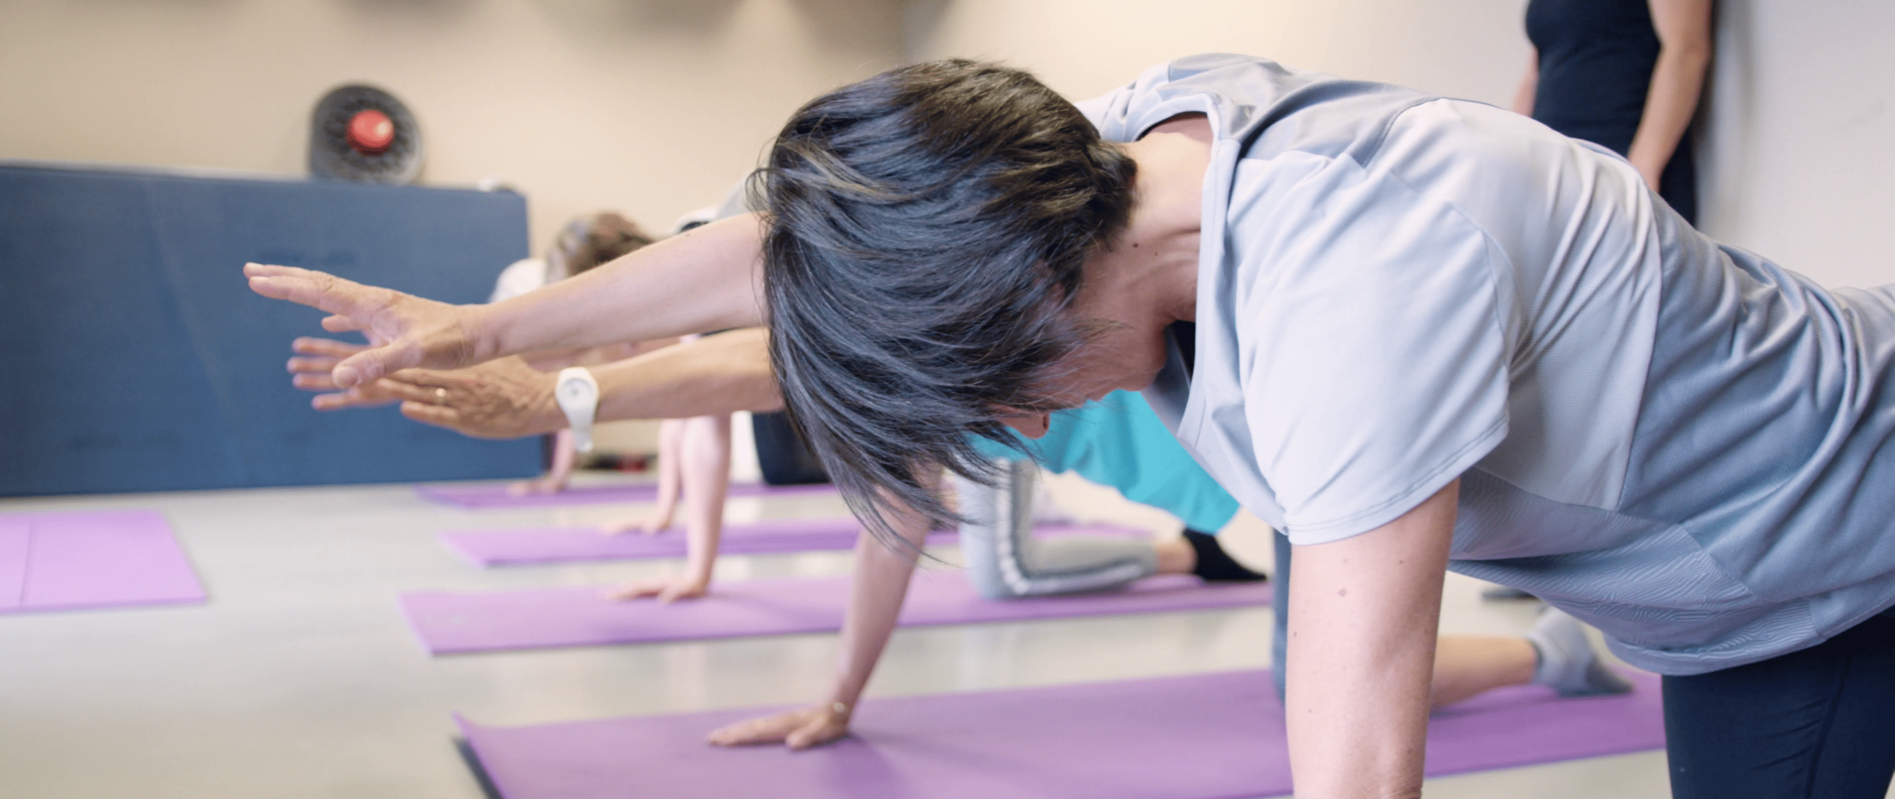
[[[783,742],[792,750],[821,746],[849,733],[849,718],[868,678],[881,661],[881,651],[894,634],[894,625],[902,615],[902,600],[908,596],[908,579],[915,570],[915,557],[929,536],[927,519],[896,511],[894,532],[908,542],[900,551],[875,540],[866,530],[855,543],[855,579],[849,585],[849,612],[841,623],[841,663],[836,668],[836,685],[828,697],[803,710],[790,710],[739,721],[711,733],[711,742],[718,746],[775,744]]]

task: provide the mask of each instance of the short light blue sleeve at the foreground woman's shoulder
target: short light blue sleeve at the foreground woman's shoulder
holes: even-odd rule
[[[1287,191],[1247,191],[1243,415],[1296,543],[1399,519],[1507,437],[1497,257],[1450,203],[1349,161]]]

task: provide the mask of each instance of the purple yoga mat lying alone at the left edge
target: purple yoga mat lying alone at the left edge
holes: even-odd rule
[[[203,600],[155,511],[0,517],[0,613]]]

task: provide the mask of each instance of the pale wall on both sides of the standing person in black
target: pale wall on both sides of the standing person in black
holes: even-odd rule
[[[1239,51],[1508,104],[1524,0],[917,0],[911,59],[985,57],[1093,97],[1186,53]],[[1895,4],[1721,0],[1702,227],[1831,286],[1895,282]]]

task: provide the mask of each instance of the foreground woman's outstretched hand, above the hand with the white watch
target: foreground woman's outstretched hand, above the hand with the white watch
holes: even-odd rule
[[[311,269],[244,263],[243,273],[256,293],[328,311],[332,316],[322,320],[322,329],[368,335],[373,346],[335,364],[335,388],[364,386],[398,369],[455,369],[478,362],[476,341],[466,328],[468,311],[460,305]]]

